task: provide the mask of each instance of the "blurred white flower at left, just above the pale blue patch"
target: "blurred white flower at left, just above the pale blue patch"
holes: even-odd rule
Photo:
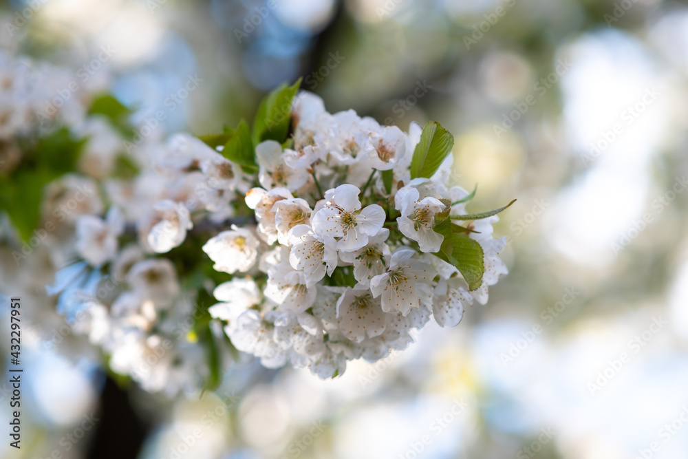
[[[76,250],[93,266],[103,266],[117,255],[117,238],[124,227],[124,218],[116,207],[110,209],[105,220],[82,215],[76,220]]]

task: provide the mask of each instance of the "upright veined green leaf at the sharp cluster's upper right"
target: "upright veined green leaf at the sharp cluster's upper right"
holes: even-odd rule
[[[451,153],[454,136],[437,121],[429,121],[420,134],[411,158],[411,178],[430,178],[439,169],[440,164]]]

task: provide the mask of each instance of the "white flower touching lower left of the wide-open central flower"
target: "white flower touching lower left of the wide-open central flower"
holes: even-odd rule
[[[292,245],[289,262],[292,268],[303,270],[306,286],[314,286],[325,273],[332,275],[337,266],[336,242],[332,237],[323,239],[308,225],[294,226],[289,234]]]

